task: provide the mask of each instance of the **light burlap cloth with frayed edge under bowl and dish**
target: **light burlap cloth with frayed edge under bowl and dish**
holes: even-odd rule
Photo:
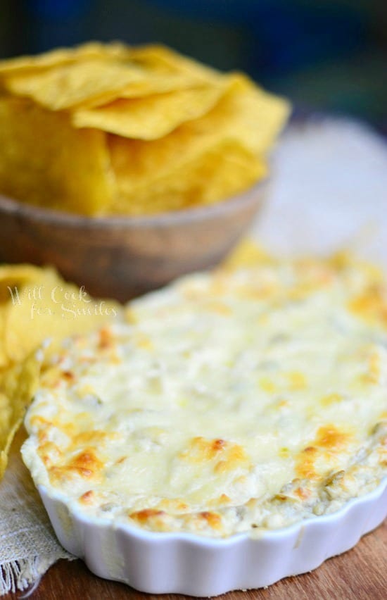
[[[311,120],[277,148],[269,199],[252,232],[283,254],[342,246],[387,267],[387,146],[367,127]],[[0,482],[0,595],[36,582],[59,558],[58,543],[20,458],[21,431]]]

